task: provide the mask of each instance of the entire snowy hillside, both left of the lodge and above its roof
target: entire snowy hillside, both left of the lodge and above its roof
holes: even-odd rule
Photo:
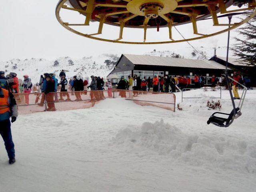
[[[161,57],[176,57],[188,59],[206,60],[214,55],[213,48],[196,47],[196,52],[191,47],[186,47],[182,50],[166,50],[158,51],[152,50],[144,55],[161,56]],[[124,53],[128,54],[128,52]],[[225,56],[226,47],[218,47],[217,55]],[[230,53],[232,55],[232,53]],[[46,60],[43,58],[31,59],[11,59],[8,61],[0,61],[0,70],[9,72],[16,72],[19,78],[24,74],[28,74],[33,83],[38,82],[40,75],[45,72],[55,73],[58,77],[62,69],[65,70],[67,78],[74,75],[90,77],[91,75],[106,77],[113,68],[113,64],[118,61],[120,55],[115,54],[101,54],[99,56],[89,56],[80,59],[73,59],[70,57],[56,58],[55,60]],[[110,67],[106,66],[106,62],[110,63]],[[56,66],[54,66],[54,63]]]

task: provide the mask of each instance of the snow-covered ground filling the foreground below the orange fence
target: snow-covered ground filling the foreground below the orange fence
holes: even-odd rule
[[[182,111],[123,98],[93,108],[20,115],[12,124],[16,160],[0,144],[2,192],[254,192],[256,90],[228,128],[207,125],[208,97],[176,94]],[[230,112],[222,91],[221,112]],[[218,99],[214,99],[218,100]],[[238,102],[238,101],[236,101]]]

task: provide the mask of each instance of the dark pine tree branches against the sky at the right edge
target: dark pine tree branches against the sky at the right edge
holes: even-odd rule
[[[237,32],[243,39],[234,37],[236,43],[231,48],[240,63],[256,66],[256,17],[252,18]]]

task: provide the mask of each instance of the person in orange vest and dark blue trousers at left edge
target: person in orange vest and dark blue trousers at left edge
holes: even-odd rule
[[[9,164],[16,162],[14,143],[12,141],[11,122],[15,122],[18,116],[18,107],[11,92],[0,85],[0,134],[9,157]]]

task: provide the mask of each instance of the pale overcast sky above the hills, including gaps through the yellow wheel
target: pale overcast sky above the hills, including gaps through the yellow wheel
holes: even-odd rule
[[[12,0],[1,2],[1,61],[12,58],[26,59],[32,57],[54,59],[61,56],[70,56],[72,58],[80,58],[82,56],[99,55],[103,53],[118,55],[122,53],[143,54],[144,52],[149,52],[154,49],[175,51],[184,46],[189,46],[186,42],[156,45],[128,45],[84,38],[66,30],[58,23],[55,17],[57,3],[58,0]],[[82,20],[84,19],[82,16],[79,16],[77,12],[70,13],[69,10],[64,10],[61,14],[65,22],[69,22],[68,18],[73,20],[77,18],[76,21],[81,21],[81,18]],[[235,19],[233,19],[233,21],[235,21]],[[202,24],[198,24],[198,32],[204,32],[204,30],[208,29],[209,33],[216,29],[216,27],[212,26],[211,20],[207,20],[208,25],[206,22],[203,22]],[[220,20],[220,23],[227,22],[227,18],[222,18]],[[98,22],[92,23],[91,27],[90,30],[97,31]],[[185,37],[191,35],[192,24],[178,26],[177,28]],[[110,25],[104,25],[103,33],[110,34],[115,29],[116,32],[113,34],[118,36],[119,28]],[[156,32],[156,29],[150,29],[147,31],[148,39],[154,39],[156,36],[168,35],[166,30],[167,28],[160,28],[160,32]],[[232,31],[231,36],[235,35],[236,33]],[[143,30],[125,28],[124,36],[127,38],[139,37],[142,39]],[[173,36],[176,39],[181,38],[174,28]],[[226,46],[227,32],[211,38],[190,41],[190,43],[195,47]],[[231,43],[234,43],[232,39]]]

